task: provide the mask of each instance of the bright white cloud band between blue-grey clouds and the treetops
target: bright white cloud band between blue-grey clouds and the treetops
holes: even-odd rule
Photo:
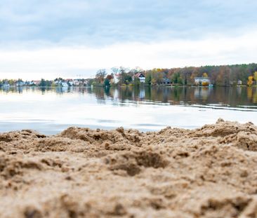
[[[1,79],[53,79],[55,76],[93,76],[113,66],[185,67],[256,62],[257,32],[241,36],[211,36],[190,41],[119,43],[103,48],[48,47],[38,50],[0,50]]]

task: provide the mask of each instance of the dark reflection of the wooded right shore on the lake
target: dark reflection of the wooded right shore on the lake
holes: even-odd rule
[[[99,102],[151,102],[152,104],[216,104],[227,107],[257,107],[257,88],[159,87],[88,88]]]

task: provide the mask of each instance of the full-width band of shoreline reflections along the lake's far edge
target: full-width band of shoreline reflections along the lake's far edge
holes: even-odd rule
[[[226,107],[257,107],[257,88],[231,87],[120,87],[120,88],[35,88],[35,87],[3,87],[0,93],[40,92],[65,95],[79,93],[93,95],[100,104],[111,102],[124,103],[128,100],[138,104],[185,104],[185,105],[220,105]]]

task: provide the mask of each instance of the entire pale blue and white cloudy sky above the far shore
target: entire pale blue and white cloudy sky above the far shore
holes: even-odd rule
[[[0,79],[251,63],[256,0],[1,0]]]

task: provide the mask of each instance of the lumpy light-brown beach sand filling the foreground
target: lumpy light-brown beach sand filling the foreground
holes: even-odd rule
[[[0,217],[257,217],[257,127],[0,134]]]

